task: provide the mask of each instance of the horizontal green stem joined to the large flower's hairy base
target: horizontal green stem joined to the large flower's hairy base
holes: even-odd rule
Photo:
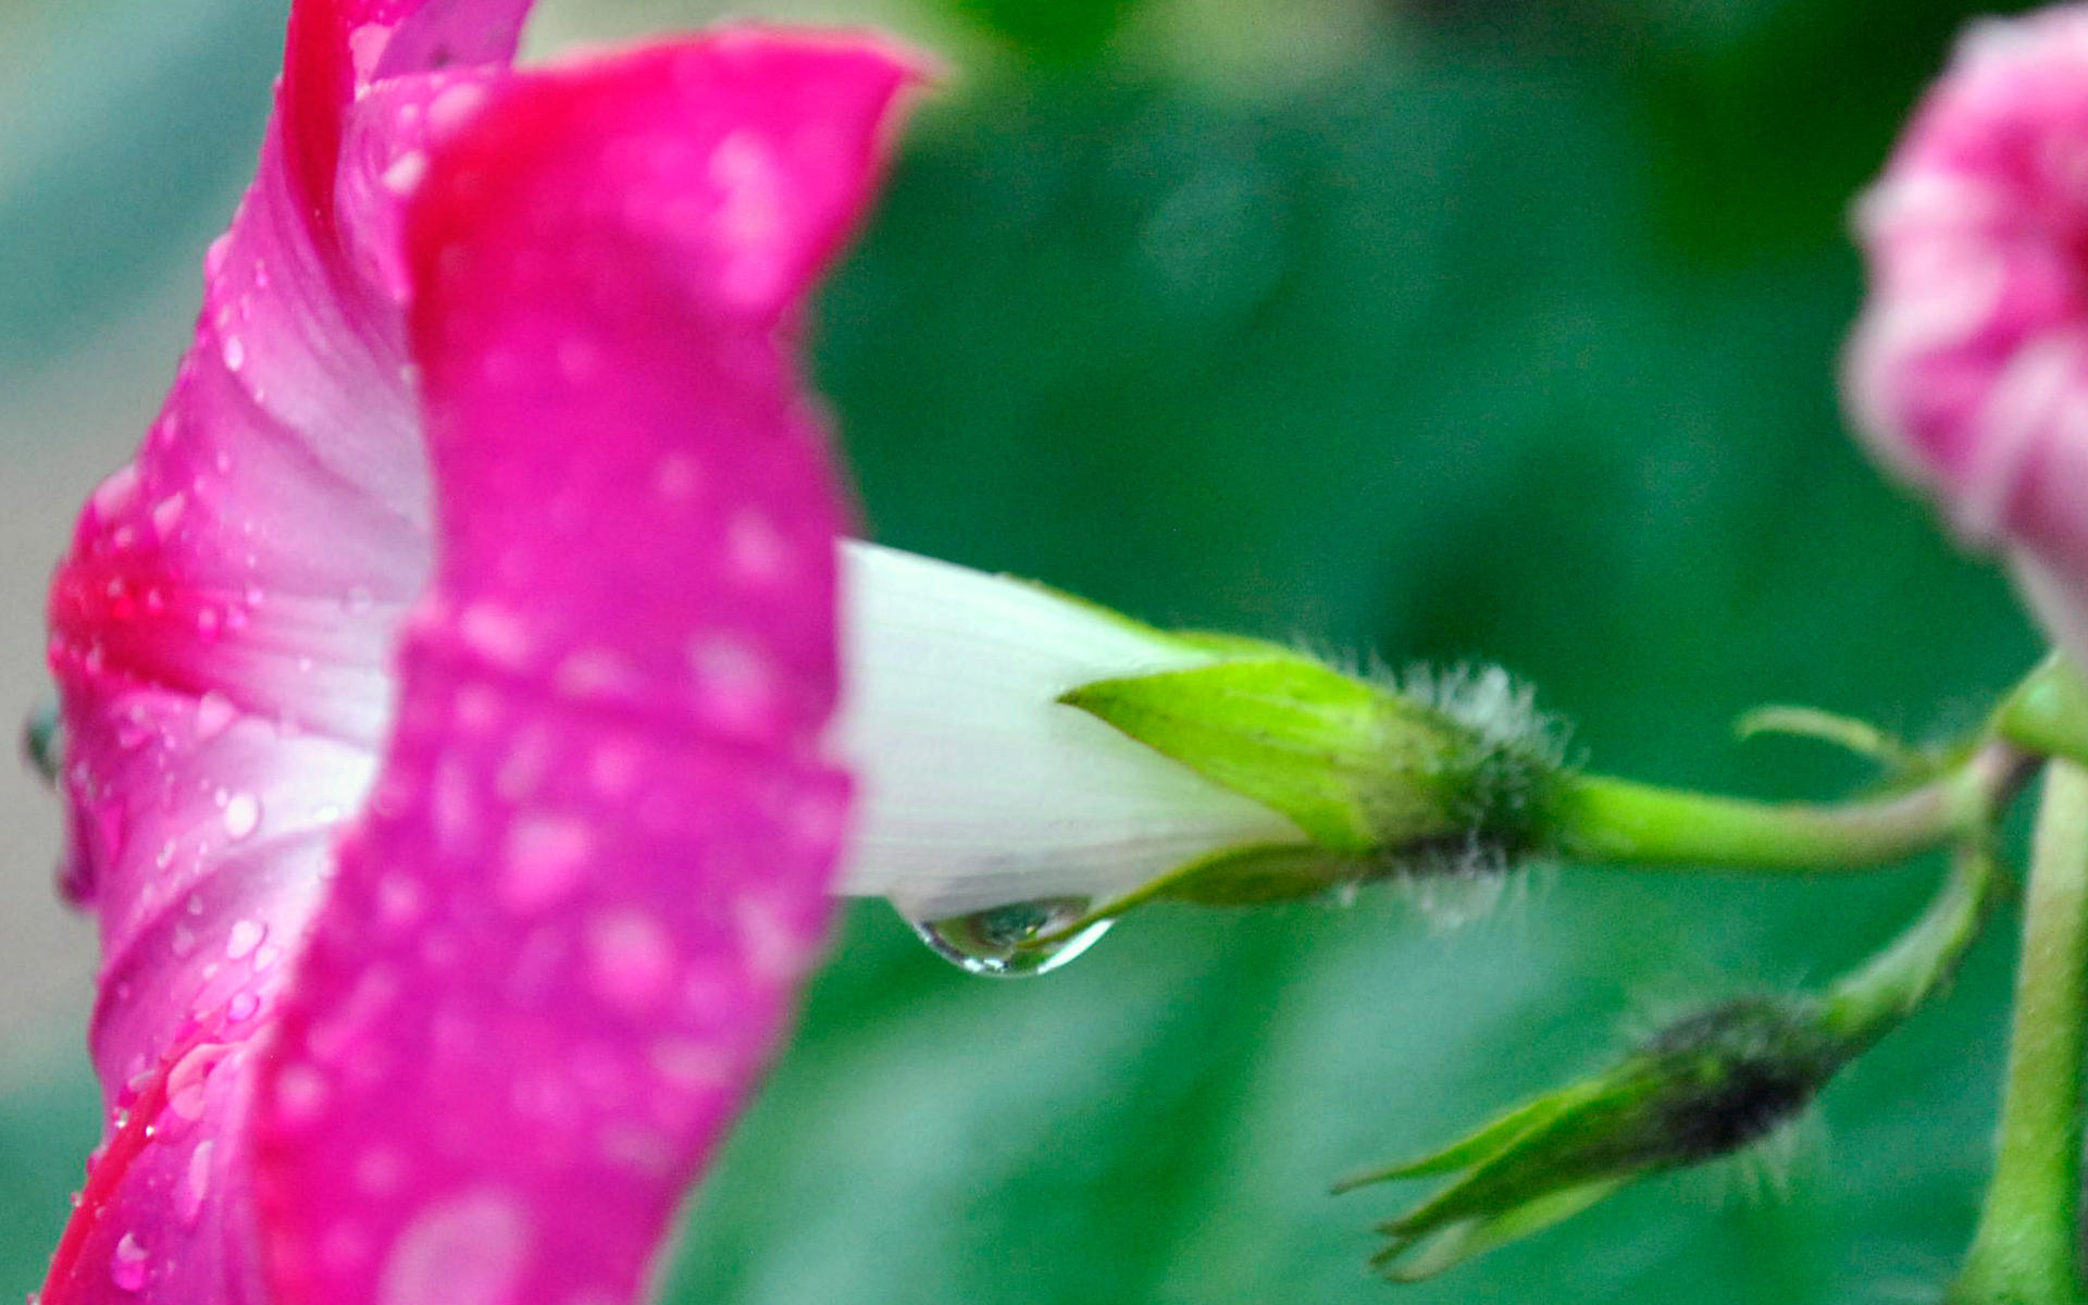
[[[1572,775],[1551,806],[1551,831],[1574,860],[1817,875],[1971,837],[2019,775],[2021,760],[2004,745],[1890,798],[1835,804],[1750,802]]]

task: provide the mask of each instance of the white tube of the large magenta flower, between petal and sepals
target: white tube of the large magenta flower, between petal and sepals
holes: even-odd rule
[[[1025,580],[841,547],[844,756],[858,816],[844,889],[938,919],[1102,900],[1249,844],[1303,844],[1272,808],[1057,697],[1217,660]]]

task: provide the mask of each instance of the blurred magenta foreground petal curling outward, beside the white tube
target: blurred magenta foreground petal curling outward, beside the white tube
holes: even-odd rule
[[[516,77],[434,148],[441,555],[261,1073],[280,1301],[631,1299],[783,1027],[848,798],[787,319],[908,79],[731,31]]]

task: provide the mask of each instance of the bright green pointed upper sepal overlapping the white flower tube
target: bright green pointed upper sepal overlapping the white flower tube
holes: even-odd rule
[[[1366,854],[1476,833],[1470,729],[1301,656],[1082,685],[1059,702],[1290,816],[1320,848]]]

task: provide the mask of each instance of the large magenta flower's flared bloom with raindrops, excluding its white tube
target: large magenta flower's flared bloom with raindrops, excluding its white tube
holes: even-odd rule
[[[848,779],[798,301],[915,77],[299,0],[52,585],[109,1134],[44,1305],[608,1305],[787,1019]]]

